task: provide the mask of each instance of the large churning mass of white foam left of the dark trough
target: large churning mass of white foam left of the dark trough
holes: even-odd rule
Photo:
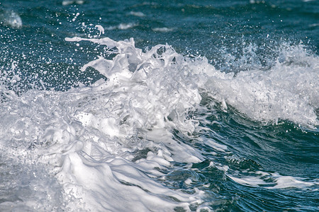
[[[1,149],[27,166],[50,164],[47,175],[57,177],[64,191],[62,204],[71,210],[189,210],[189,204],[201,202],[198,192],[169,189],[153,177],[161,177],[159,170],[172,161],[202,159],[191,146],[174,141],[170,132],[196,128],[187,119],[201,101],[192,73],[181,73],[176,61],[183,58],[169,46],[142,53],[133,40],[91,41],[117,48],[112,60],[100,57],[83,67],[94,67],[108,80],[64,93],[29,90],[2,102]],[[8,149],[9,144],[16,148]],[[134,160],[147,149],[147,155]],[[30,200],[23,196],[23,201]]]

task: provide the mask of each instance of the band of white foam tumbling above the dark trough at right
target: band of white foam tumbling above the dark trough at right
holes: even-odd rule
[[[209,78],[206,90],[252,119],[319,124],[315,113],[319,107],[319,59],[300,46],[281,49],[276,64],[267,71],[218,73]]]

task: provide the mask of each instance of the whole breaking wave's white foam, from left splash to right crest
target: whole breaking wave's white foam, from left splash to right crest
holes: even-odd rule
[[[234,76],[168,45],[142,52],[133,39],[67,41],[111,49],[113,59],[99,57],[82,68],[93,67],[107,81],[66,92],[29,90],[21,96],[1,88],[2,157],[13,158],[4,163],[18,164],[27,173],[21,178],[30,182],[28,187],[18,184],[25,192],[13,191],[1,210],[189,211],[191,204],[201,204],[203,193],[197,189],[189,194],[157,181],[172,162],[204,159],[200,150],[172,139],[173,129],[185,136],[198,130],[191,112],[201,107],[201,92],[222,102],[225,110],[231,105],[262,122],[318,124],[318,57],[298,47],[283,50],[283,61],[269,71]],[[9,182],[10,176],[4,175]]]

